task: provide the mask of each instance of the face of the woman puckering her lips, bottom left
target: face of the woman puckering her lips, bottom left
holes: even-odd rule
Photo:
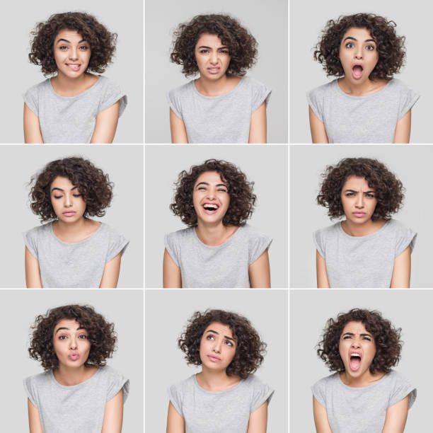
[[[91,343],[87,331],[71,319],[63,319],[54,326],[54,352],[59,364],[66,367],[82,366],[88,359]]]

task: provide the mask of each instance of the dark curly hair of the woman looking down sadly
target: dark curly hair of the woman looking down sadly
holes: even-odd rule
[[[74,156],[48,163],[40,173],[31,178],[30,184],[33,186],[29,195],[30,208],[34,214],[40,216],[41,221],[57,219],[51,204],[50,187],[58,176],[68,178],[79,188],[86,202],[84,217],[105,215],[104,209],[110,206],[113,187],[108,174],[93,166],[91,161]]]

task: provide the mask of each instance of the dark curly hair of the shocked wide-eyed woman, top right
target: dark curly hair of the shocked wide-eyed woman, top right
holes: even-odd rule
[[[327,76],[343,76],[345,71],[340,62],[342,37],[350,28],[366,28],[376,41],[379,60],[369,79],[390,80],[400,71],[405,59],[405,37],[396,34],[396,23],[374,13],[355,13],[330,20],[322,32],[321,40],[313,49],[313,57]]]

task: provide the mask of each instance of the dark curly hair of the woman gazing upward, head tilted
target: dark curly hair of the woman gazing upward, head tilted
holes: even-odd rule
[[[236,340],[236,354],[226,368],[227,376],[239,376],[246,379],[253,374],[263,362],[266,343],[253,328],[250,321],[236,313],[222,310],[196,311],[189,319],[185,332],[178,339],[180,350],[185,353],[188,364],[201,365],[200,342],[204,330],[212,323],[218,322],[229,326]]]

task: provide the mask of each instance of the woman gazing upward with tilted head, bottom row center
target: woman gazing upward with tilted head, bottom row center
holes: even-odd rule
[[[248,319],[197,311],[178,345],[202,371],[168,389],[167,433],[265,433],[274,391],[253,376],[266,345]]]

